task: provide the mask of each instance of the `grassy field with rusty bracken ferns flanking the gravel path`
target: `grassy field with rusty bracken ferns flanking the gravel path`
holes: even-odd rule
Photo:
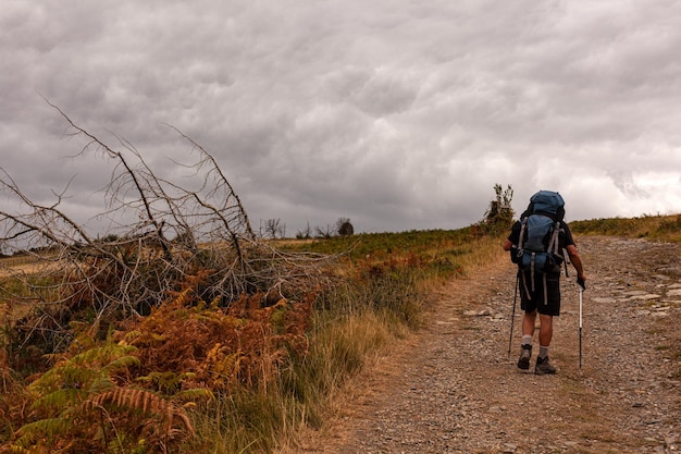
[[[681,242],[679,217],[571,226]],[[277,257],[329,258],[317,287],[224,304],[207,298],[210,271],[197,268],[148,314],[106,323],[88,300],[73,303],[81,289],[67,277],[39,275],[38,285],[32,263],[5,258],[0,452],[267,453],[295,443],[325,424],[337,390],[370,358],[419,330],[434,290],[504,254],[503,238],[471,226],[280,242]],[[50,302],[37,312],[34,289]],[[65,310],[71,318],[60,318]],[[48,316],[64,332],[29,330]]]

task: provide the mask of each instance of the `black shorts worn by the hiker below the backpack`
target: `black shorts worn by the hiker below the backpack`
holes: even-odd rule
[[[546,316],[560,315],[560,273],[534,275],[534,291],[532,291],[532,274],[521,272],[520,275],[520,308],[525,312],[536,310]],[[546,280],[544,280],[546,279]],[[544,293],[546,289],[546,298]]]

